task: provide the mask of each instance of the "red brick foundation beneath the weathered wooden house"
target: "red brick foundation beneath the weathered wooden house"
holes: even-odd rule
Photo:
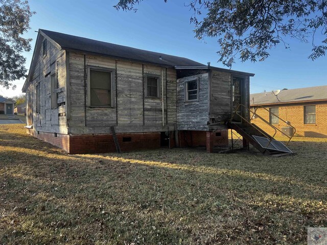
[[[27,129],[27,133],[59,146],[69,154],[107,153],[116,152],[111,134],[66,135],[38,132]],[[206,146],[205,131],[179,131],[179,145],[181,147]],[[228,144],[228,131],[208,132],[212,135],[214,146]],[[160,132],[151,133],[118,133],[116,134],[123,152],[160,148]],[[170,135],[170,146],[175,147],[174,132]]]

